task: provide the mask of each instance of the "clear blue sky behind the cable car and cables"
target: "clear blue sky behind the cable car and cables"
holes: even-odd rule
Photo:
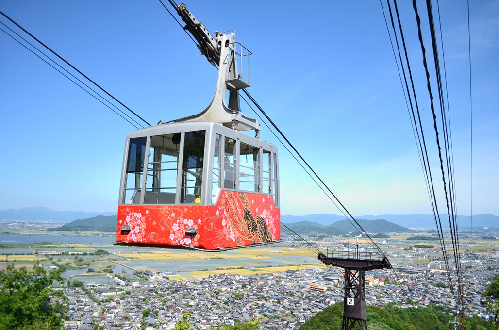
[[[442,201],[414,11],[404,2]],[[440,2],[458,213],[499,215],[499,1],[471,3],[473,211],[467,3]],[[250,93],[353,215],[431,213],[379,2],[186,4],[212,32],[236,30],[253,52]],[[0,10],[150,123],[198,113],[213,97],[216,70],[158,1],[1,0]],[[0,209],[116,211],[135,128],[1,31],[0,49]],[[282,214],[339,213],[265,127],[260,136],[279,147]]]

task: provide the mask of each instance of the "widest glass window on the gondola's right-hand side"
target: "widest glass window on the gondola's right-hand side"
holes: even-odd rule
[[[259,191],[259,151],[258,147],[240,143],[239,149],[239,189]]]

